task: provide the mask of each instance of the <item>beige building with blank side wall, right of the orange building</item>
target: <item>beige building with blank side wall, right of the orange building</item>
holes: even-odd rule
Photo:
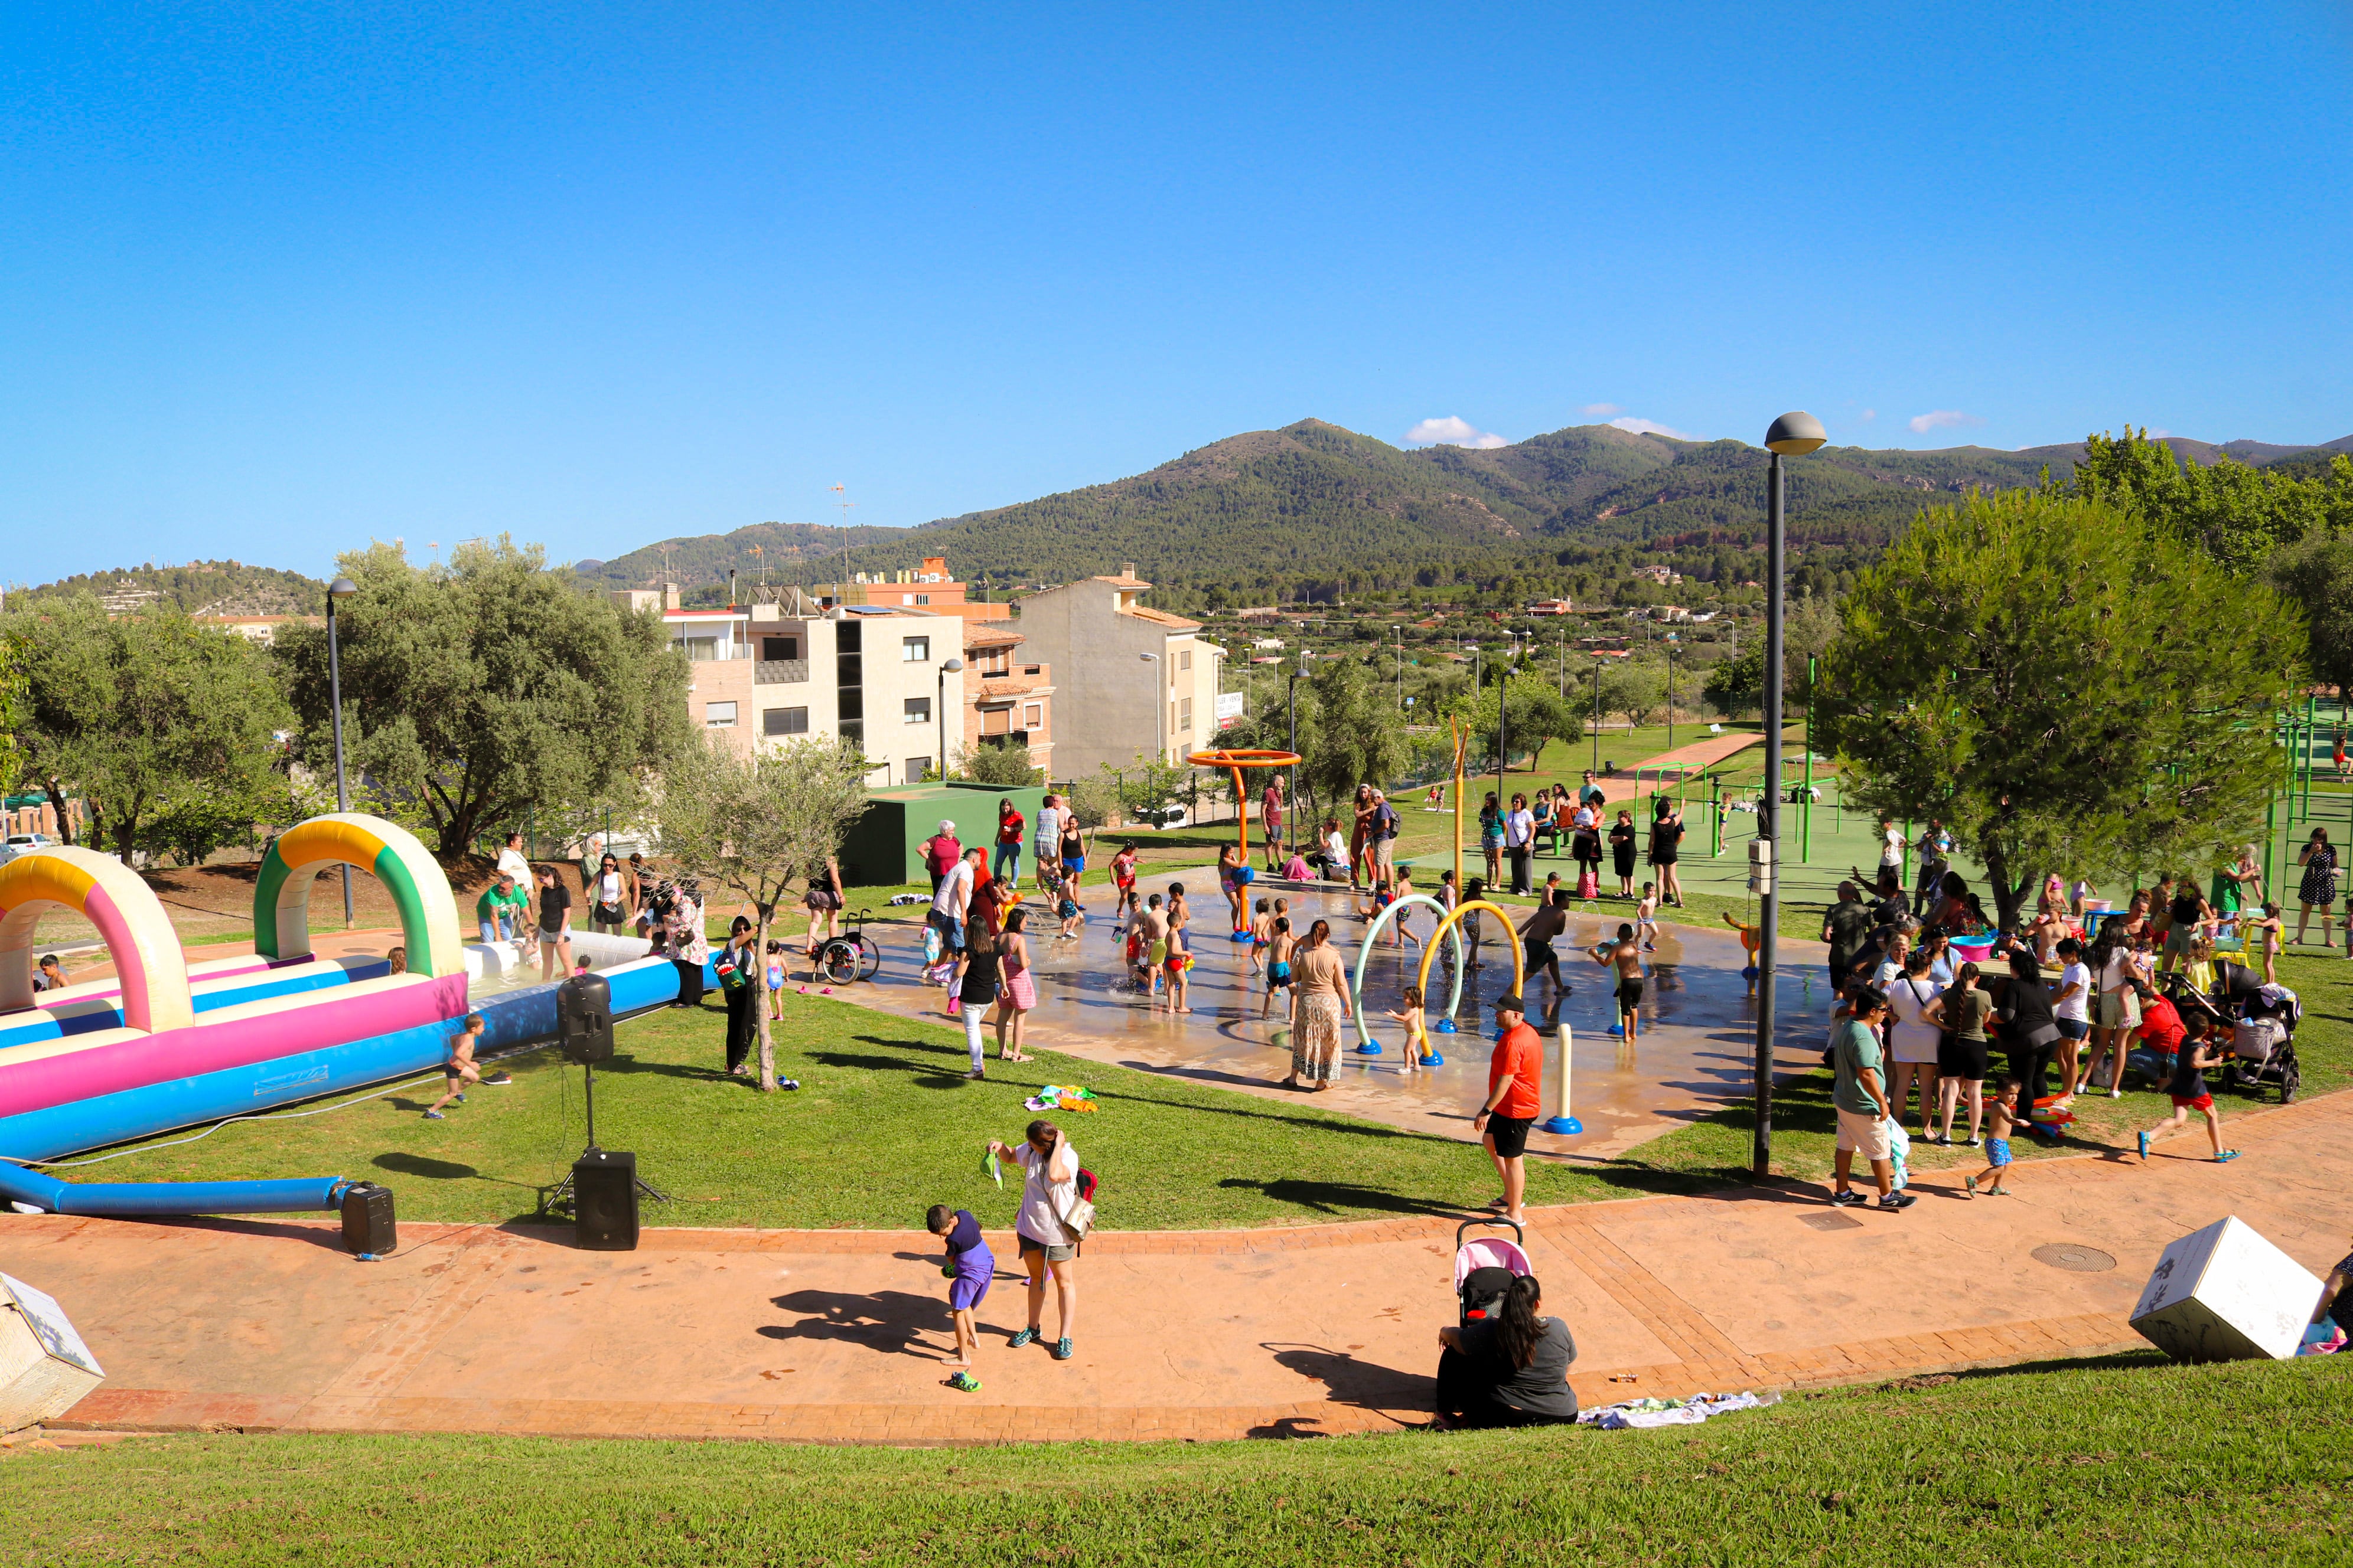
[[[1151,583],[1132,562],[1021,599],[1026,649],[1054,670],[1052,778],[1169,762],[1217,745],[1219,661],[1200,623],[1144,604]]]

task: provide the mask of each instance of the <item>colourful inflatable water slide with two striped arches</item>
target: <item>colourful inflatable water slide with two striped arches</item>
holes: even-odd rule
[[[311,952],[311,889],[339,865],[391,893],[405,973],[386,957]],[[33,936],[52,910],[96,926],[111,980],[33,990]],[[447,1060],[468,1011],[482,1013],[485,1051],[553,1039],[558,983],[501,990],[492,957],[468,947],[426,846],[374,816],[318,816],[282,832],[254,882],[254,952],[195,966],[162,903],[113,856],[16,856],[0,865],[0,1204],[118,1215],[336,1208],[353,1187],[344,1178],[64,1182],[26,1166],[426,1072]],[[656,957],[624,957],[602,978],[614,1018],[668,1006],[682,990],[680,966]]]

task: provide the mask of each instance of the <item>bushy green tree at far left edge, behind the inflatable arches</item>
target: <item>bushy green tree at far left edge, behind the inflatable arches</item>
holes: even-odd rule
[[[89,595],[16,611],[7,635],[24,651],[16,745],[59,825],[80,797],[89,839],[129,860],[158,846],[158,820],[162,846],[186,853],[205,837],[188,825],[200,811],[216,830],[209,853],[285,797],[271,731],[289,715],[268,656],[245,637],[165,607],[108,618]]]

